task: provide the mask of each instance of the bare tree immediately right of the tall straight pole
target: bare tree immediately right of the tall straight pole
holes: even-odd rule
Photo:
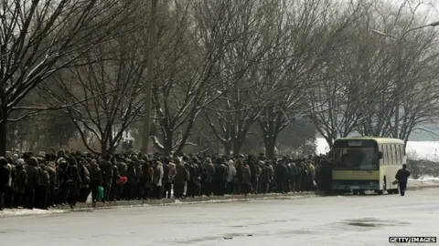
[[[233,40],[228,35],[237,6],[231,0],[176,2],[169,9],[174,21],[161,21],[166,26],[158,39],[153,100],[162,140],[153,137],[156,149],[178,153],[190,144],[198,114],[221,95],[214,77],[224,47]]]

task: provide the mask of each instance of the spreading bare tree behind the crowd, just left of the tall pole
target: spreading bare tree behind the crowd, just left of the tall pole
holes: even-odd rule
[[[145,48],[139,46],[142,42],[138,33],[116,35],[83,54],[88,65],[66,69],[55,77],[61,91],[59,101],[71,105],[65,111],[93,153],[112,154],[128,126],[141,116],[146,66]],[[101,149],[93,149],[89,138],[98,139]]]

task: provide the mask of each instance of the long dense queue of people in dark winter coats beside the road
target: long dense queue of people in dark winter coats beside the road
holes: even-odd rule
[[[330,162],[322,156],[8,153],[0,158],[0,210],[67,204],[73,209],[90,194],[96,206],[117,200],[326,190],[330,173]]]

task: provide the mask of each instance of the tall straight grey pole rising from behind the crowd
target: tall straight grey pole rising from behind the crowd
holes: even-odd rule
[[[144,108],[144,127],[142,131],[142,153],[149,152],[149,134],[151,132],[151,108],[152,90],[154,83],[154,62],[155,62],[155,42],[156,42],[156,23],[157,23],[157,0],[151,1],[150,21],[148,26],[147,41],[147,64],[145,81],[145,108]]]

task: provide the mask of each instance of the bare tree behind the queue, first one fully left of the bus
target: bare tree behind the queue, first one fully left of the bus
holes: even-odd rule
[[[348,26],[359,9],[350,5],[352,13],[337,16],[337,5],[331,1],[294,1],[293,5],[277,5],[274,20],[273,47],[265,63],[262,80],[270,81],[273,97],[258,119],[267,157],[273,158],[277,137],[296,116],[303,116],[324,102],[308,104],[316,74],[320,74],[329,54],[337,45],[338,35]],[[290,9],[294,9],[291,11]],[[333,16],[331,18],[330,16]],[[286,19],[286,21],[284,21]],[[331,28],[328,28],[331,26]]]

